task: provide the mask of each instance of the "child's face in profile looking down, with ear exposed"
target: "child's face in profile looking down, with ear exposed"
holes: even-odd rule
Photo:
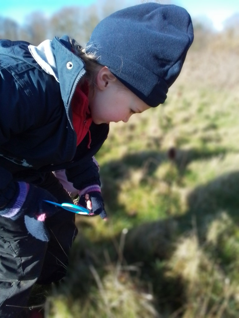
[[[105,66],[97,75],[96,86],[94,95],[89,97],[91,117],[95,124],[127,122],[132,114],[151,108],[120,83]]]

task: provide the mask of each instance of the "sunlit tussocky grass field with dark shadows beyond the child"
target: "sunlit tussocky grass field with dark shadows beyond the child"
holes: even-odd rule
[[[111,125],[109,222],[77,216],[46,317],[238,318],[239,43],[195,39],[166,103]]]

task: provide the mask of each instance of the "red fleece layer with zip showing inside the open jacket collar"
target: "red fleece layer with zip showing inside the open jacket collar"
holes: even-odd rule
[[[85,82],[81,87],[77,86],[72,97],[72,122],[77,135],[77,146],[82,142],[83,138],[89,133],[88,148],[90,148],[91,134],[90,126],[92,123],[91,113],[89,109],[89,85]]]

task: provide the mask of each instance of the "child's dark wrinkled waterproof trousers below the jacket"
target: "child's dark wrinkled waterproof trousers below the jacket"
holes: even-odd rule
[[[52,193],[58,203],[72,203],[53,173],[47,173],[39,186]],[[29,234],[23,218],[12,221],[0,216],[1,318],[22,317],[34,283],[50,284],[66,274],[69,250],[77,234],[75,214],[59,208],[45,225],[50,234],[48,243]]]

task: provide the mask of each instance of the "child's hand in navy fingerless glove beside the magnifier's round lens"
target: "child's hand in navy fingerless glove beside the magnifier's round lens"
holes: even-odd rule
[[[80,197],[78,204],[90,210],[89,216],[99,215],[104,221],[107,221],[104,201],[100,192],[89,191]]]

